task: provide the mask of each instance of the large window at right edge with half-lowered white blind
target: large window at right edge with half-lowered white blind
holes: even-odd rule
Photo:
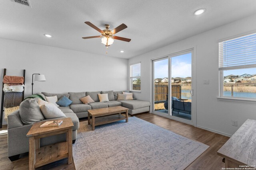
[[[256,33],[219,43],[220,97],[256,99]]]

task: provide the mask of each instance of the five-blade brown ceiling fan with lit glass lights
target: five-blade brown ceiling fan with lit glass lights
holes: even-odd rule
[[[121,25],[119,25],[118,27],[113,29],[112,31],[109,30],[109,25],[108,24],[105,24],[106,29],[101,30],[98,27],[96,27],[95,25],[93,25],[92,23],[90,23],[89,21],[86,21],[84,23],[86,23],[90,27],[96,29],[97,31],[99,31],[101,33],[101,35],[91,36],[91,37],[82,37],[82,39],[101,38],[101,37],[103,37],[101,39],[101,42],[106,45],[107,49],[108,49],[108,46],[113,44],[114,39],[121,40],[121,41],[126,41],[126,42],[130,42],[131,41],[131,39],[124,38],[124,37],[118,37],[118,36],[114,35],[114,34],[118,33],[119,31],[122,31],[123,29],[127,28],[127,26],[124,23],[122,23]],[[106,53],[108,53],[108,51],[106,51]]]

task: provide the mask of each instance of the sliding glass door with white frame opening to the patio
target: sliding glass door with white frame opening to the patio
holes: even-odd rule
[[[193,124],[193,51],[152,61],[152,112]]]

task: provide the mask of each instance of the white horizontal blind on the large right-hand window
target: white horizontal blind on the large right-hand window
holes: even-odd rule
[[[219,43],[219,70],[256,67],[256,33]]]

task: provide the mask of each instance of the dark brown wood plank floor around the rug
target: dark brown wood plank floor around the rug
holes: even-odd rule
[[[224,163],[222,163],[222,157],[217,155],[217,150],[220,149],[222,145],[224,145],[229,137],[154,114],[142,113],[136,115],[136,117],[210,146],[201,156],[192,162],[192,164],[190,164],[186,170],[221,170],[221,168],[224,167]],[[79,132],[85,131],[84,127],[86,123],[86,120],[80,121],[80,128],[78,130]],[[3,125],[3,128],[0,129],[0,131],[6,129],[7,126]],[[0,135],[0,170],[27,170],[28,153],[21,155],[19,160],[11,162],[8,158],[7,147],[7,134]],[[60,160],[39,167],[37,170],[75,170],[74,163],[68,165],[67,162],[67,159]]]

